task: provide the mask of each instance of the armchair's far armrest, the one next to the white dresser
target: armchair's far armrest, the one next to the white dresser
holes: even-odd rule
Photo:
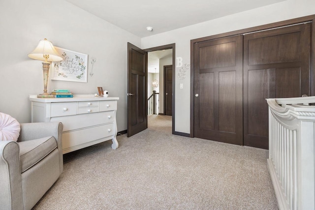
[[[59,150],[60,174],[63,172],[63,123],[61,122],[32,122],[21,123],[20,136],[18,142],[39,139],[46,136],[53,136],[57,141]]]

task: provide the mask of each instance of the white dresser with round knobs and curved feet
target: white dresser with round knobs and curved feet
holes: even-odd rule
[[[74,95],[37,98],[30,95],[32,122],[63,123],[63,154],[107,140],[118,148],[116,111],[119,97]]]

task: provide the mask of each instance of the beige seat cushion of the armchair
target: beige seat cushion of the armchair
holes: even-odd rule
[[[53,136],[18,142],[18,144],[20,146],[21,173],[31,168],[57,148],[57,142]]]

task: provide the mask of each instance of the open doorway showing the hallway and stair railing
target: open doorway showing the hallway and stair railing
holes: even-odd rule
[[[174,133],[175,44],[148,52],[148,127],[168,127]]]

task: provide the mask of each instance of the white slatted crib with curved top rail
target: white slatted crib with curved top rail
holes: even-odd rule
[[[268,170],[280,210],[315,210],[315,96],[266,99]]]

